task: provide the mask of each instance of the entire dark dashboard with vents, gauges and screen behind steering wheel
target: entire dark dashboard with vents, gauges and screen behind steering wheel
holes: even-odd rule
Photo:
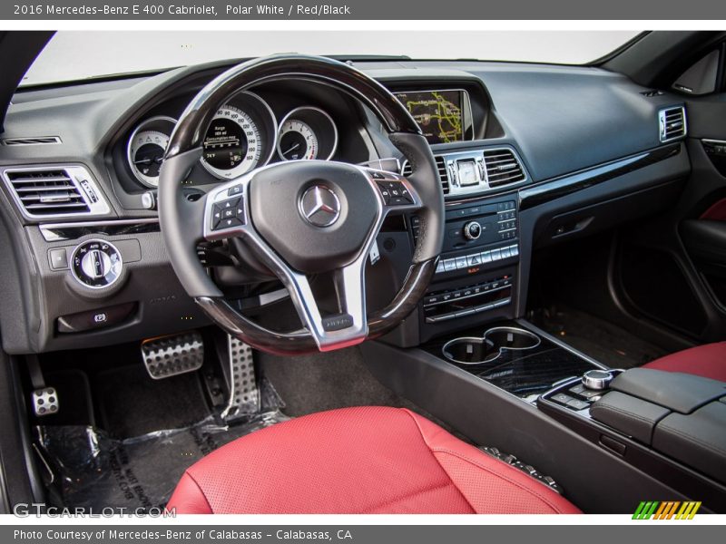
[[[113,345],[209,323],[170,266],[156,189],[176,121],[232,65],[16,93],[0,146],[7,353]],[[396,93],[417,121],[446,200],[437,273],[417,311],[386,337],[393,345],[523,316],[534,248],[665,206],[690,172],[682,100],[616,73],[473,61],[355,66]],[[410,173],[365,104],[288,77],[221,104],[185,195],[200,199],[266,164],[310,159]],[[415,214],[384,225],[381,258],[367,271],[376,286],[370,308],[385,306],[401,286],[418,228]],[[198,251],[235,307],[264,313],[284,300],[269,271],[225,249]]]

